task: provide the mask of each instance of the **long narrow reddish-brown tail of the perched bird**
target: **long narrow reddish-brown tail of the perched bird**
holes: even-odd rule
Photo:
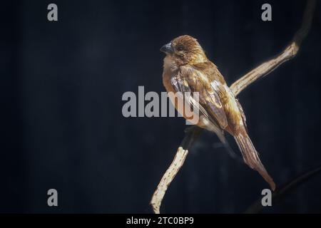
[[[253,170],[256,170],[264,178],[264,180],[270,185],[271,189],[275,190],[275,183],[272,177],[267,173],[265,167],[263,166],[260,158],[258,157],[258,152],[255,150],[253,143],[251,142],[248,135],[238,134],[234,136],[238,147],[242,152],[243,159],[245,163],[250,166]]]

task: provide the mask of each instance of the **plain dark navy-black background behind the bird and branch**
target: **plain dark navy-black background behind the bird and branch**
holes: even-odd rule
[[[58,21],[47,6],[58,5]],[[272,5],[272,21],[260,19]],[[163,53],[198,38],[228,85],[282,51],[305,1],[1,2],[0,212],[151,212],[183,118],[123,118],[126,91],[164,91]],[[277,186],[321,164],[321,4],[302,49],[238,97]],[[162,212],[244,212],[268,185],[210,133],[190,150]],[[235,142],[230,144],[238,151]],[[58,190],[58,207],[47,190]],[[321,176],[264,212],[321,212]]]

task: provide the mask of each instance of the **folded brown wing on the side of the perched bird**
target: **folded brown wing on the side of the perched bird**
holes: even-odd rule
[[[180,72],[172,78],[172,85],[176,92],[198,92],[198,107],[200,113],[224,129],[228,125],[224,107],[221,103],[223,94],[218,81],[211,83],[208,77],[192,66],[180,67]],[[195,100],[190,103],[195,106]]]

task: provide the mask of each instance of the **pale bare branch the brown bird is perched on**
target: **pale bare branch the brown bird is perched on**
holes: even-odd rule
[[[272,58],[270,61],[266,61],[249,73],[245,74],[245,76],[241,77],[238,81],[235,81],[235,83],[230,86],[230,89],[233,91],[235,96],[250,86],[250,84],[253,82],[263,78],[264,76],[267,76],[268,73],[271,73],[273,70],[275,70],[275,68],[280,66],[282,63],[285,63],[285,61],[288,61],[296,56],[303,39],[307,36],[307,33],[310,30],[314,11],[315,0],[308,0],[302,19],[302,25],[297,33],[295,33],[290,45],[287,46],[287,48],[285,48],[285,50],[282,51],[282,53],[280,53],[277,57]],[[185,134],[181,146],[178,147],[173,162],[163,175],[161,182],[159,182],[158,187],[151,199],[151,206],[153,207],[154,213],[160,213],[161,202],[163,201],[165,192],[168,189],[170,182],[173,181],[175,175],[180,170],[180,167],[183,166],[185,158],[188,155],[188,149],[191,147],[193,142],[195,142],[195,139],[198,138],[198,135],[200,135],[201,131],[202,129],[195,126],[190,128]]]

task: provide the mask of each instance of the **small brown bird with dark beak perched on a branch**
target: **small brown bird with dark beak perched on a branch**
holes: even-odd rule
[[[275,183],[265,170],[258,152],[248,136],[243,108],[233,92],[226,85],[217,66],[208,60],[203,48],[191,36],[179,36],[161,47],[166,54],[163,65],[163,84],[167,92],[190,93],[188,103],[193,110],[198,110],[196,123],[216,133],[224,145],[224,131],[230,133],[243,155],[243,160],[252,169],[257,170],[275,190]],[[198,93],[198,101],[192,98]],[[177,100],[171,100],[178,112],[188,119],[182,110],[178,109]]]

